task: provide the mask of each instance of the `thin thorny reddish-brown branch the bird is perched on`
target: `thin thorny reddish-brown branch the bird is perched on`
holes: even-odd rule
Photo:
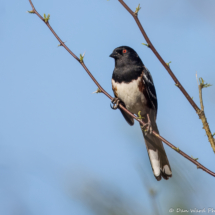
[[[88,70],[88,68],[86,67],[86,65],[84,64],[83,58],[82,60],[80,60],[66,45],[65,43],[58,37],[58,35],[55,33],[55,31],[52,29],[52,27],[49,24],[49,21],[45,22],[45,20],[42,18],[42,16],[36,11],[33,3],[31,0],[29,0],[31,6],[32,6],[32,11],[31,13],[35,13],[46,25],[47,27],[50,29],[50,31],[54,34],[54,36],[56,37],[56,39],[60,42],[61,46],[63,46],[81,65],[82,67],[85,69],[85,71],[88,73],[88,75],[90,76],[90,78],[93,80],[93,82],[98,86],[99,90],[97,90],[98,92],[101,91],[102,93],[104,93],[110,100],[113,99],[112,96],[110,96],[102,87],[101,85],[97,82],[97,80],[93,77],[93,75],[90,73],[90,71]],[[82,56],[82,55],[81,55]],[[83,56],[82,56],[83,57]],[[119,107],[124,110],[126,113],[128,113],[130,116],[132,116],[136,121],[138,121],[140,124],[142,124],[143,126],[146,125],[141,119],[139,119],[138,117],[136,117],[134,114],[132,114],[130,111],[128,111],[123,105],[119,104]],[[203,171],[207,172],[208,174],[212,175],[215,177],[215,173],[210,171],[209,169],[207,169],[205,166],[203,166],[202,164],[200,164],[199,162],[197,162],[195,159],[191,158],[189,155],[187,155],[186,153],[184,153],[183,151],[179,150],[179,148],[176,148],[173,144],[171,144],[170,142],[168,142],[166,139],[164,139],[162,136],[160,136],[159,134],[157,134],[155,131],[152,131],[152,133],[159,138],[160,140],[162,140],[164,143],[166,143],[169,147],[171,147],[172,149],[174,149],[176,152],[178,152],[179,154],[181,154],[183,157],[185,157],[186,159],[188,159],[189,161],[191,161],[192,163],[194,163],[197,168],[202,169]]]

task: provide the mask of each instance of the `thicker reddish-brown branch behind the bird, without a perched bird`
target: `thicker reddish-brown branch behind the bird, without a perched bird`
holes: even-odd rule
[[[191,106],[194,108],[196,113],[199,115],[199,118],[202,120],[203,128],[205,129],[206,134],[208,136],[208,141],[210,142],[211,147],[212,147],[212,149],[213,149],[213,151],[215,153],[215,139],[213,138],[213,135],[212,135],[212,133],[210,131],[210,128],[209,128],[209,125],[207,123],[207,119],[206,119],[204,110],[199,109],[199,107],[196,105],[196,103],[193,101],[193,99],[190,97],[190,95],[187,93],[187,91],[184,89],[184,87],[181,85],[179,80],[176,78],[176,76],[174,75],[174,73],[170,69],[169,63],[165,63],[163,58],[160,56],[160,54],[157,52],[157,50],[155,49],[155,47],[151,43],[150,39],[148,38],[146,32],[143,29],[143,26],[141,25],[141,23],[140,23],[140,21],[138,19],[138,12],[140,10],[140,6],[138,5],[138,7],[136,8],[135,12],[133,12],[123,0],[118,0],[118,1],[132,15],[132,17],[136,21],[136,23],[137,23],[137,25],[138,25],[143,37],[145,38],[145,40],[147,42],[147,44],[145,44],[145,43],[142,43],[142,44],[146,45],[148,48],[150,48],[153,51],[155,56],[158,58],[158,60],[161,62],[161,64],[165,67],[165,69],[167,70],[169,75],[172,77],[173,81],[175,82],[175,85],[181,90],[181,92],[184,94],[184,96],[190,102]]]

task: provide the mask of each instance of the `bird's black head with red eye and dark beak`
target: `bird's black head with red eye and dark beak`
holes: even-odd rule
[[[129,65],[143,66],[143,62],[139,58],[134,49],[128,46],[120,46],[113,50],[110,57],[115,59],[115,67],[123,67]]]

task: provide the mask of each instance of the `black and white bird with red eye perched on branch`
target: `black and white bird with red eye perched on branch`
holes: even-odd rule
[[[115,48],[110,57],[115,60],[112,75],[115,98],[112,103],[117,107],[121,103],[131,113],[141,115],[147,126],[141,130],[154,176],[158,181],[167,180],[172,177],[169,160],[162,141],[152,134],[152,130],[159,134],[156,123],[158,102],[152,76],[136,51],[128,46]],[[134,125],[133,117],[122,109],[120,111],[127,123]]]

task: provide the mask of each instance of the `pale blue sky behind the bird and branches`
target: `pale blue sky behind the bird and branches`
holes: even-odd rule
[[[203,90],[203,99],[215,132],[215,2],[125,2],[133,9],[141,4],[144,29],[198,105],[196,72],[213,85]],[[121,45],[135,49],[155,82],[161,135],[215,171],[201,121],[154,54],[141,45],[144,38],[118,1],[33,3],[40,14],[51,15],[51,26],[76,55],[86,52],[87,67],[110,94],[114,61],[109,55]],[[27,10],[27,0],[0,1],[0,214],[91,214],[76,195],[91,180],[117,187],[150,211],[139,165],[159,191],[164,214],[174,198],[185,197],[176,192],[183,186],[195,190],[189,193],[190,206],[215,208],[214,178],[167,146],[173,179],[154,179],[138,124],[130,127],[109,99],[92,94],[97,87],[83,68]],[[175,188],[171,180],[181,184]]]

